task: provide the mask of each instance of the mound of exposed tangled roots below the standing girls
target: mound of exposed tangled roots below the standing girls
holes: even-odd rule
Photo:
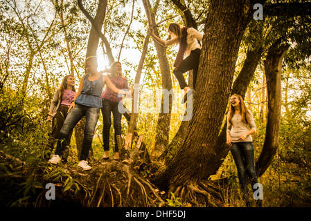
[[[155,187],[148,180],[144,180],[131,165],[108,162],[94,167],[87,180],[79,182],[81,191],[85,192],[82,206],[155,207],[165,204]],[[94,186],[87,186],[98,173],[100,175]]]

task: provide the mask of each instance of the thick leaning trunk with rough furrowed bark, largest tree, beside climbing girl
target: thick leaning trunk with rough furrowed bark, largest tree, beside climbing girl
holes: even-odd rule
[[[178,186],[191,186],[190,190],[197,191],[197,184],[219,168],[221,157],[215,138],[226,111],[238,48],[251,20],[252,8],[249,1],[211,1],[197,90],[193,94],[193,118],[177,155],[156,177],[155,182],[161,188],[175,191]]]

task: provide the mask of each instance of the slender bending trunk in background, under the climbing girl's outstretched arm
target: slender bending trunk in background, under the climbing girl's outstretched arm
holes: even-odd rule
[[[155,22],[155,13],[152,11],[152,8],[150,6],[149,0],[143,0],[143,6],[145,7],[145,12],[148,18],[148,23],[150,27],[154,27],[156,25]],[[159,36],[158,30],[156,27],[154,27],[154,34]],[[160,70],[161,70],[161,78],[162,78],[162,88],[163,90],[170,91],[172,90],[172,79],[170,78],[170,66],[168,65],[168,59],[166,57],[166,47],[163,47],[159,42],[153,41],[154,46],[157,50],[157,55],[159,59],[160,64]],[[159,118],[157,122],[157,129],[156,129],[156,138],[155,138],[155,155],[159,156],[161,155],[165,149],[166,146],[168,146],[168,138],[170,133],[170,116],[172,112],[172,96],[168,97],[168,103],[166,99],[161,99],[161,113],[159,113]],[[168,106],[168,113],[164,113],[164,106]]]

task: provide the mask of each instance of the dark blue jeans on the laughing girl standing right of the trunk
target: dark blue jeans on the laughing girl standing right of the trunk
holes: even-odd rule
[[[236,168],[238,169],[238,178],[243,193],[248,193],[247,175],[251,178],[251,186],[258,183],[258,177],[255,170],[254,145],[253,142],[231,143],[231,154],[233,155]]]

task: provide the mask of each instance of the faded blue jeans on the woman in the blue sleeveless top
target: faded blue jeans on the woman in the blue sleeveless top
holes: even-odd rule
[[[99,111],[100,108],[75,104],[75,108],[69,111],[62,129],[60,130],[60,135],[58,135],[55,155],[62,155],[64,147],[70,142],[70,134],[71,131],[73,131],[75,124],[78,124],[80,119],[85,116],[85,136],[82,142],[80,160],[87,160],[87,156],[89,155],[89,148],[91,148],[96,124],[99,117]]]

